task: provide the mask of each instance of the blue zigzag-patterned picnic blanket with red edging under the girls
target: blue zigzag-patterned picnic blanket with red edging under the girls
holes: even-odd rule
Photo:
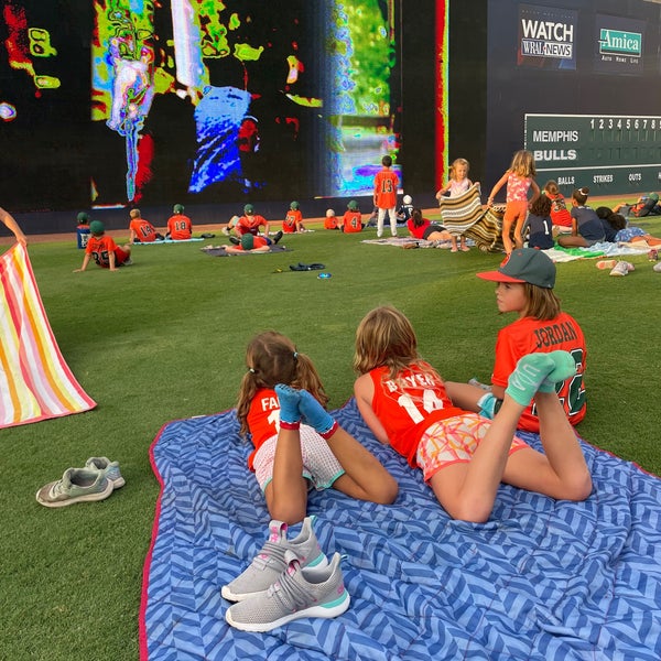
[[[270,633],[226,625],[220,587],[261,548],[268,511],[234,411],[172,422],[152,445],[162,491],[144,571],[143,661],[661,658],[657,477],[585,443],[595,484],[585,502],[503,486],[489,522],[458,522],[419,470],[373,438],[354,400],[336,415],[400,484],[393,506],[311,496],[322,548],[346,556],[349,609]]]

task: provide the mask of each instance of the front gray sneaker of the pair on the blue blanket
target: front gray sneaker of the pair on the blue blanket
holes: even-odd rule
[[[333,618],[342,615],[351,598],[344,586],[339,553],[323,571],[301,566],[286,551],[286,568],[266,592],[227,609],[227,624],[242,631],[271,631],[302,617]]]

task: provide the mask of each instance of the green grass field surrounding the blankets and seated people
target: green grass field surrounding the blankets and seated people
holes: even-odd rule
[[[661,219],[637,225],[661,235]],[[290,335],[314,359],[332,408],[351,395],[355,328],[383,303],[411,318],[423,356],[445,378],[489,379],[496,334],[512,317],[498,315],[494,285],[475,273],[501,256],[361,238],[318,230],[286,238],[292,252],[223,259],[201,252],[202,243],[136,247],[134,266],[116,273],[73,273],[83,258],[73,241],[30,247],[59,348],[98,407],[0,431],[0,659],[138,658],[159,492],[149,446],[171,420],[234,407],[254,333]],[[300,261],[323,262],[332,278],[289,270]],[[588,413],[578,431],[661,474],[661,273],[644,256],[630,259],[637,270],[626,278],[609,278],[595,261],[557,269],[556,293],[588,346]],[[126,487],[61,510],[35,501],[39,487],[94,455],[118,459]]]

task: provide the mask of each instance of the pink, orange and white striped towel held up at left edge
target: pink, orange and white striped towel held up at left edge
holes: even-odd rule
[[[0,256],[0,429],[94,409],[59,353],[20,243]]]

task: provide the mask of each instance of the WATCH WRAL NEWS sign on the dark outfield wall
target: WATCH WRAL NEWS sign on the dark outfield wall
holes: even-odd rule
[[[571,9],[519,6],[519,66],[576,68],[578,12]]]

